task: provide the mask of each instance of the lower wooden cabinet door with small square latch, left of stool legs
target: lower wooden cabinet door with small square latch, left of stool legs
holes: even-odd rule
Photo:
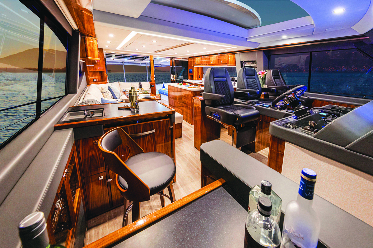
[[[106,212],[110,208],[106,172],[84,178],[85,196],[90,217]]]

